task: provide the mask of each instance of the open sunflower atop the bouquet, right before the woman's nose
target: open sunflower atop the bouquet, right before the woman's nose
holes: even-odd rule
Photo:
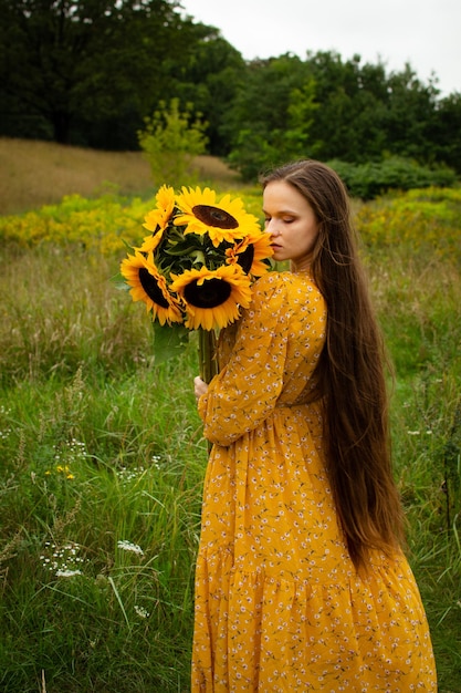
[[[256,217],[244,210],[241,199],[231,200],[230,195],[224,195],[217,203],[216,192],[210,188],[181,189],[182,195],[176,200],[180,214],[175,217],[175,225],[186,226],[185,234],[208,234],[217,248],[223,240],[233,242],[260,230]]]

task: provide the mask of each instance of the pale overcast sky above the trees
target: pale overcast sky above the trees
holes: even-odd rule
[[[355,53],[387,73],[409,62],[442,95],[461,93],[461,0],[180,0],[247,60],[306,51]]]

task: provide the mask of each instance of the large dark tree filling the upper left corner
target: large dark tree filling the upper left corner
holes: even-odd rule
[[[209,31],[182,19],[175,0],[0,0],[0,83],[17,115],[72,124],[143,115],[168,97],[171,65]],[[135,136],[133,131],[133,136]]]

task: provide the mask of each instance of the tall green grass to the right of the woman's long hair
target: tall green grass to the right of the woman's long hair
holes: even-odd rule
[[[459,231],[458,231],[459,234]],[[383,260],[386,260],[384,263]],[[450,259],[388,251],[375,296],[395,364],[396,474],[440,691],[461,691],[461,281]]]

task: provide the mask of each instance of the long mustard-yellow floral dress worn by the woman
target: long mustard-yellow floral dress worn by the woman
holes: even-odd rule
[[[308,275],[265,275],[199,400],[193,693],[437,691],[407,560],[376,552],[360,577],[337,525],[312,384],[325,324]]]

